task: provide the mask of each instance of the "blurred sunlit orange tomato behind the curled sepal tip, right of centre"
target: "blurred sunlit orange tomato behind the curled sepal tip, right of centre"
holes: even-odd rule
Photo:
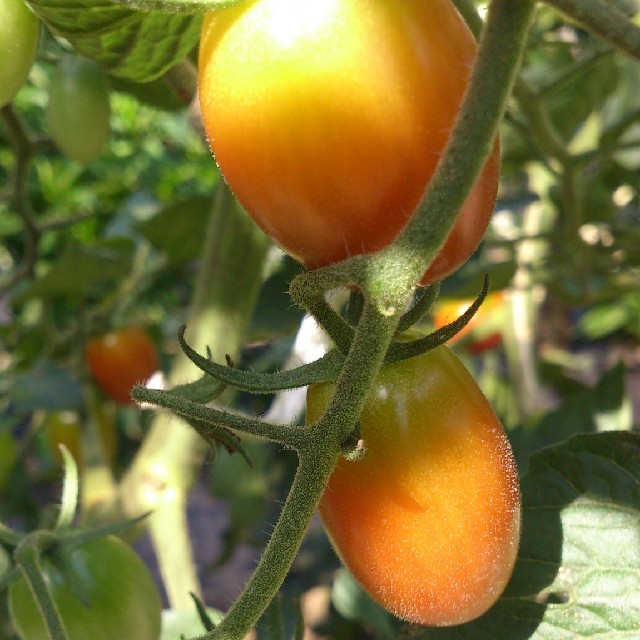
[[[438,300],[433,313],[436,329],[457,320],[473,303],[470,298],[443,298]],[[506,308],[504,291],[487,294],[481,307],[471,320],[449,340],[448,344],[461,343],[467,352],[479,355],[495,349],[502,342],[502,325]]]

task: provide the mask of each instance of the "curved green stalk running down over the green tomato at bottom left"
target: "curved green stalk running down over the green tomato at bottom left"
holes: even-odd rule
[[[20,568],[44,618],[50,640],[69,640],[62,617],[40,567],[40,551],[51,544],[46,532],[27,536],[15,550],[14,559]]]

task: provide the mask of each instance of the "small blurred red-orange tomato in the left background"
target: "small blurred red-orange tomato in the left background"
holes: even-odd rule
[[[124,327],[93,338],[85,353],[98,386],[120,404],[131,404],[133,386],[144,384],[160,366],[153,341],[140,327]]]

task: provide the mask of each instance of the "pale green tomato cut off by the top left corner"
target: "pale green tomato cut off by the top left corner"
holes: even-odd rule
[[[40,21],[23,0],[0,0],[0,107],[26,82],[39,39]]]

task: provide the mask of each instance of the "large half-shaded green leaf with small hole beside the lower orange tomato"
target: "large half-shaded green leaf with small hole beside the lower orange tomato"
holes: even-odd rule
[[[518,561],[481,618],[433,640],[640,637],[640,434],[581,435],[531,459]]]

